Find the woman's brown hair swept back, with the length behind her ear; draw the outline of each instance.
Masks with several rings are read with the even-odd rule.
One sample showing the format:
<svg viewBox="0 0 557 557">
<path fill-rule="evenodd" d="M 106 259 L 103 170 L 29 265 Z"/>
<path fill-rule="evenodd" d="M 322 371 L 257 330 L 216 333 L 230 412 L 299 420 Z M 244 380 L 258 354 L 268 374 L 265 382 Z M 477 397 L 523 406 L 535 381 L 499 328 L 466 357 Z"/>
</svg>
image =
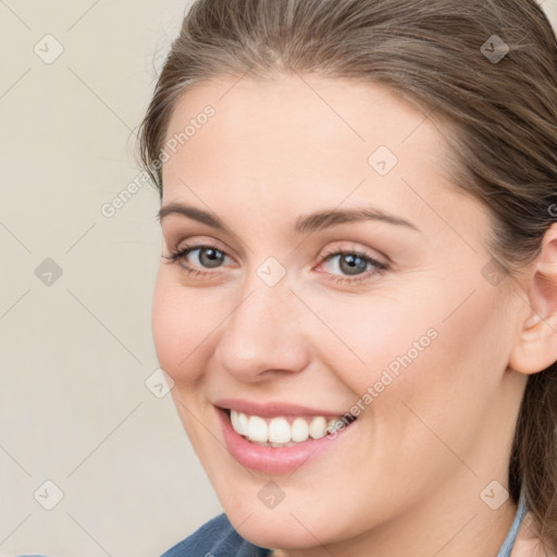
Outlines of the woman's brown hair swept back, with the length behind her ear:
<svg viewBox="0 0 557 557">
<path fill-rule="evenodd" d="M 490 209 L 496 261 L 512 275 L 540 252 L 557 220 L 557 40 L 534 0 L 196 1 L 140 126 L 141 162 L 161 195 L 177 99 L 248 72 L 389 86 L 440 123 L 451 181 Z M 557 363 L 528 377 L 508 480 L 557 553 Z"/>
</svg>

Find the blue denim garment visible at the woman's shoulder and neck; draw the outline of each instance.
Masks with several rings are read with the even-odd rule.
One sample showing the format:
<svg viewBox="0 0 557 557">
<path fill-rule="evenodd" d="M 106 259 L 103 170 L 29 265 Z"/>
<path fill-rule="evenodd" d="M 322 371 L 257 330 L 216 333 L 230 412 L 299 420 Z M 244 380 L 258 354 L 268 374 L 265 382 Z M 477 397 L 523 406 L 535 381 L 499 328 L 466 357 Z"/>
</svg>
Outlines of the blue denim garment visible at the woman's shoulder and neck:
<svg viewBox="0 0 557 557">
<path fill-rule="evenodd" d="M 524 491 L 520 493 L 515 520 L 497 557 L 509 557 L 518 529 L 527 512 Z M 258 547 L 244 540 L 233 528 L 226 515 L 222 513 L 206 522 L 189 537 L 165 552 L 161 557 L 265 557 L 271 549 Z"/>
</svg>

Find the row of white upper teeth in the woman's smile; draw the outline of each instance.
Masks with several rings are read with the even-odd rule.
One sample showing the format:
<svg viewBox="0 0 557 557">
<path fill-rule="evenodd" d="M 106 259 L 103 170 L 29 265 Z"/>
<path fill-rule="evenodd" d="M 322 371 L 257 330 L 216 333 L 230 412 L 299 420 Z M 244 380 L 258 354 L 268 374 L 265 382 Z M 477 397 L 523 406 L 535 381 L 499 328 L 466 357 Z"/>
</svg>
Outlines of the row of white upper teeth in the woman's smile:
<svg viewBox="0 0 557 557">
<path fill-rule="evenodd" d="M 231 410 L 234 431 L 246 435 L 249 441 L 259 443 L 300 443 L 308 437 L 319 440 L 335 431 L 335 423 L 339 420 L 342 420 L 341 417 L 333 418 L 327 422 L 323 416 L 315 416 L 309 423 L 306 418 L 295 418 L 290 424 L 285 418 L 273 418 L 268 422 L 259 416 L 247 416 Z"/>
</svg>

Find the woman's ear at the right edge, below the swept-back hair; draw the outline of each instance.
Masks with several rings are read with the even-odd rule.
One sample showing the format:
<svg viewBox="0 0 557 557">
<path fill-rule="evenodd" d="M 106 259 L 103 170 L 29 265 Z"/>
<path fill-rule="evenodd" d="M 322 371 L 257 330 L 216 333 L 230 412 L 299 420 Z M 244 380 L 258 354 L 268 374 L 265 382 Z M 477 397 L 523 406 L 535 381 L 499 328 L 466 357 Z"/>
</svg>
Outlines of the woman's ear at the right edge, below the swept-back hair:
<svg viewBox="0 0 557 557">
<path fill-rule="evenodd" d="M 530 311 L 508 363 L 525 374 L 543 371 L 557 360 L 557 223 L 545 233 L 525 283 Z"/>
</svg>

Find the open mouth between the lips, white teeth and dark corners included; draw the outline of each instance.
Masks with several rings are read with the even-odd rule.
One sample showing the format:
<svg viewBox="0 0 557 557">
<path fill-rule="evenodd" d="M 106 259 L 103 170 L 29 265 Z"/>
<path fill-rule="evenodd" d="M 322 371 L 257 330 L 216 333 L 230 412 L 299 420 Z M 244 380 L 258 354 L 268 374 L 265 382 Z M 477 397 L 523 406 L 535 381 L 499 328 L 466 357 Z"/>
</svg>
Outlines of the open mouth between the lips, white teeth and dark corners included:
<svg viewBox="0 0 557 557">
<path fill-rule="evenodd" d="M 238 435 L 265 447 L 293 447 L 308 440 L 333 435 L 356 421 L 356 417 L 349 412 L 327 420 L 324 416 L 261 418 L 237 410 L 224 410 Z"/>
</svg>

